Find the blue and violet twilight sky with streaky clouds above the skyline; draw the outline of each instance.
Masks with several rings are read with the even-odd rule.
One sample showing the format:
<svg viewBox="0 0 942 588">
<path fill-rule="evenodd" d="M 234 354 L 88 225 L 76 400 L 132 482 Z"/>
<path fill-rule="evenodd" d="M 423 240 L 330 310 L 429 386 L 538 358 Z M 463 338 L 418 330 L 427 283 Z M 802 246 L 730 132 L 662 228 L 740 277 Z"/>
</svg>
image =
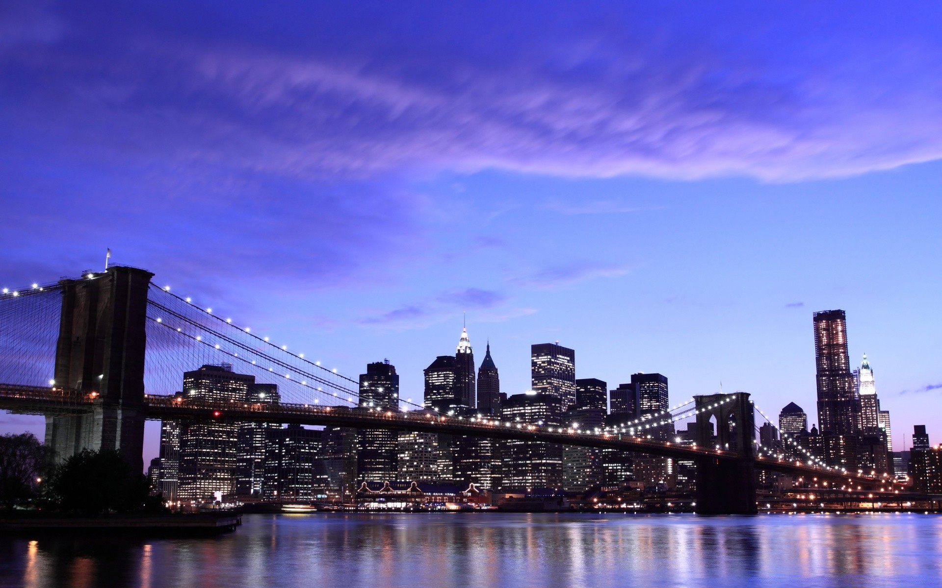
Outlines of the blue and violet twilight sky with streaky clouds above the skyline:
<svg viewBox="0 0 942 588">
<path fill-rule="evenodd" d="M 840 308 L 896 448 L 942 441 L 940 40 L 932 2 L 6 2 L 0 286 L 111 247 L 403 397 L 467 311 L 509 393 L 559 340 L 813 422 Z"/>
</svg>

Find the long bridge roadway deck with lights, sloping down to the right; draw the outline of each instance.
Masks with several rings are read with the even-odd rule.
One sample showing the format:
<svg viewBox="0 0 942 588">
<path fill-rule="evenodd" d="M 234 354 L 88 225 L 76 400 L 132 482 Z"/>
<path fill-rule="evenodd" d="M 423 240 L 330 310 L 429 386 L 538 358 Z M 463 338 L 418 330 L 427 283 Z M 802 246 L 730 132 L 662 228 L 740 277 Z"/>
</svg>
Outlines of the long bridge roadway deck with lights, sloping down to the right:
<svg viewBox="0 0 942 588">
<path fill-rule="evenodd" d="M 90 410 L 101 400 L 95 392 L 72 389 L 50 389 L 32 386 L 0 384 L 0 409 L 20 414 L 65 414 Z M 580 432 L 555 426 L 501 421 L 491 418 L 462 418 L 432 412 L 394 412 L 374 408 L 348 406 L 321 406 L 297 404 L 245 404 L 202 403 L 189 401 L 183 396 L 145 394 L 142 410 L 148 420 L 224 421 L 224 422 L 280 422 L 307 425 L 333 425 L 363 429 L 391 429 L 420 431 L 468 437 L 489 437 L 542 441 L 562 445 L 578 445 L 601 449 L 615 449 L 633 453 L 648 453 L 674 459 L 737 461 L 737 452 L 678 445 L 633 437 L 621 433 Z M 901 485 L 886 478 L 852 475 L 833 469 L 807 465 L 799 461 L 755 457 L 755 468 L 779 471 L 789 475 L 833 480 L 841 484 L 861 485 L 873 491 L 904 490 Z"/>
</svg>

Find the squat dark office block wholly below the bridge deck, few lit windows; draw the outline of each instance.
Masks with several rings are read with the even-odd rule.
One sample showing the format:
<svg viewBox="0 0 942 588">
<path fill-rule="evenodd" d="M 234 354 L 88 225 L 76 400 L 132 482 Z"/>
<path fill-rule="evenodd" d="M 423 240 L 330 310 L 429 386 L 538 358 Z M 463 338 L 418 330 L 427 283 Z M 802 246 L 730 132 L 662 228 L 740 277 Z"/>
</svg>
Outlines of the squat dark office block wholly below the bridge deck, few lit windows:
<svg viewBox="0 0 942 588">
<path fill-rule="evenodd" d="M 265 500 L 310 501 L 314 498 L 314 464 L 322 434 L 300 424 L 265 429 Z"/>
</svg>

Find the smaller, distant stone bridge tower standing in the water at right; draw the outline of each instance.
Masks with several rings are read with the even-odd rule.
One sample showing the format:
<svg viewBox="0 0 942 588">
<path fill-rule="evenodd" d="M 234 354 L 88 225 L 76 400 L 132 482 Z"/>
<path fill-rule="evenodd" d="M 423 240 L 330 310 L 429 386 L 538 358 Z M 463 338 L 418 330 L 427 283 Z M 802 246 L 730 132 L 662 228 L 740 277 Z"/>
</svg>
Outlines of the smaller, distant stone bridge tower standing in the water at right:
<svg viewBox="0 0 942 588">
<path fill-rule="evenodd" d="M 697 513 L 755 515 L 755 416 L 749 394 L 710 394 L 693 400 L 698 410 L 697 446 L 717 447 L 738 457 L 696 459 Z M 716 421 L 715 433 L 711 418 Z"/>
</svg>

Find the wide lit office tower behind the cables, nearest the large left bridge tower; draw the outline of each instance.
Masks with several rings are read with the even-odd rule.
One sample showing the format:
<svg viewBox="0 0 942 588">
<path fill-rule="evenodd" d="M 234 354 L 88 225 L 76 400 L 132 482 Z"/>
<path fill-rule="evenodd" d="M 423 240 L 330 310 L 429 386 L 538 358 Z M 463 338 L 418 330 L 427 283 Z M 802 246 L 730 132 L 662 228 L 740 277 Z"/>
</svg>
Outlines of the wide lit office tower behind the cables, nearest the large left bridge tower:
<svg viewBox="0 0 942 588">
<path fill-rule="evenodd" d="M 234 373 L 232 364 L 203 365 L 184 373 L 187 399 L 216 403 L 245 403 L 255 376 Z M 180 432 L 179 498 L 211 500 L 235 491 L 235 456 L 238 424 L 198 422 Z"/>
</svg>

